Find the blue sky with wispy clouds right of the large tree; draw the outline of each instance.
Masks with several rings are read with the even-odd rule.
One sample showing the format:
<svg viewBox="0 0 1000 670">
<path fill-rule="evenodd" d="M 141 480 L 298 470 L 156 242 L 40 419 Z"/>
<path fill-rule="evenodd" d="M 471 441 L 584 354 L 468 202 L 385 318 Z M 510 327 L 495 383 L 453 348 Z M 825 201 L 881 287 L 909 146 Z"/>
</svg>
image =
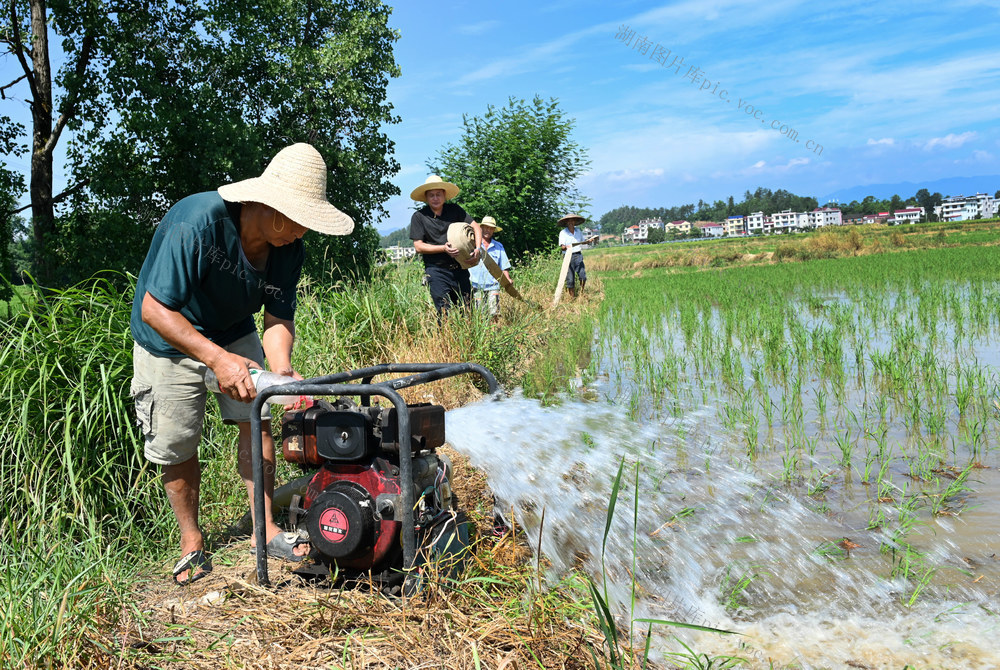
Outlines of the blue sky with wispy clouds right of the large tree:
<svg viewBox="0 0 1000 670">
<path fill-rule="evenodd" d="M 462 114 L 536 93 L 576 121 L 595 218 L 757 186 L 822 197 L 1000 174 L 998 19 L 995 0 L 400 4 L 389 99 L 402 123 L 389 132 L 404 196 L 379 229 L 408 224 L 405 194 Z M 651 58 L 657 45 L 679 71 Z"/>
</svg>

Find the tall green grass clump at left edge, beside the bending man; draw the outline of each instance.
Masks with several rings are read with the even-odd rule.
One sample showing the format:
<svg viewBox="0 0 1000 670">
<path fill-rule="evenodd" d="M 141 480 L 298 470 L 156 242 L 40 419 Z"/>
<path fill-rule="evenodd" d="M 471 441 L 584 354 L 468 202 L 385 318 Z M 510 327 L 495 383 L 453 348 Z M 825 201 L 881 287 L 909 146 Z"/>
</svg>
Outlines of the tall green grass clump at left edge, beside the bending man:
<svg viewBox="0 0 1000 670">
<path fill-rule="evenodd" d="M 0 322 L 0 665 L 86 667 L 162 502 L 130 409 L 131 295 L 37 295 Z"/>
</svg>

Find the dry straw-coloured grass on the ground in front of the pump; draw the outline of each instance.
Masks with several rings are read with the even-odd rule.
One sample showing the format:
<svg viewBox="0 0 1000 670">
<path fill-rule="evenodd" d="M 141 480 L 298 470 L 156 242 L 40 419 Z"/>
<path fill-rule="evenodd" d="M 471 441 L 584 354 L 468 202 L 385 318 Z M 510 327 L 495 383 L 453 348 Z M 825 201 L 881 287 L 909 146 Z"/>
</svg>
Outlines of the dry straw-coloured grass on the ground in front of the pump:
<svg viewBox="0 0 1000 670">
<path fill-rule="evenodd" d="M 583 623 L 589 604 L 568 606 L 552 600 L 558 593 L 530 588 L 537 575 L 523 536 L 491 536 L 485 477 L 443 451 L 479 537 L 463 579 L 401 600 L 310 583 L 271 561 L 273 588 L 265 589 L 249 539 L 235 537 L 215 548 L 213 572 L 188 587 L 173 585 L 169 566 L 151 576 L 116 633 L 118 667 L 593 667 L 588 646 L 599 649 L 603 638 Z"/>
</svg>

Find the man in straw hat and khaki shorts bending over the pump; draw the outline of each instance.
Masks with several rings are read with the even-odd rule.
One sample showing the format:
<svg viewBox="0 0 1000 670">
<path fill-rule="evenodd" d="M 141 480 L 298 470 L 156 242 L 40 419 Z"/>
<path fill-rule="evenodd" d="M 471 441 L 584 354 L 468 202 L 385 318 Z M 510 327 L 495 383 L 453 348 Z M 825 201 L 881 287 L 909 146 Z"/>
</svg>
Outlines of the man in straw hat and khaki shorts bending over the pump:
<svg viewBox="0 0 1000 670">
<path fill-rule="evenodd" d="M 260 177 L 188 196 L 163 217 L 139 272 L 132 305 L 132 396 L 145 454 L 162 467 L 180 527 L 174 580 L 189 584 L 211 571 L 198 525 L 198 443 L 208 370 L 218 380 L 223 421 L 239 427 L 238 464 L 253 511 L 250 368 L 302 379 L 292 369 L 295 289 L 302 236 L 347 235 L 354 222 L 326 198 L 326 163 L 309 144 L 285 147 Z M 263 336 L 254 314 L 264 308 Z M 265 419 L 269 419 L 265 414 Z M 264 430 L 268 555 L 299 561 L 304 538 L 282 533 L 271 512 L 274 442 Z"/>
</svg>

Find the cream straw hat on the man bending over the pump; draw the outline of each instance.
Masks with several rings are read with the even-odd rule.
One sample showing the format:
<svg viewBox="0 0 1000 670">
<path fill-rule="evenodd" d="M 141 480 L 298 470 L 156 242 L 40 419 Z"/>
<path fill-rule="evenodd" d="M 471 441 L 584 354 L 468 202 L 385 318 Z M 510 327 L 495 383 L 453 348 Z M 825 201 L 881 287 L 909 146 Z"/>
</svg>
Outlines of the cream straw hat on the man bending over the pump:
<svg viewBox="0 0 1000 670">
<path fill-rule="evenodd" d="M 326 162 L 311 144 L 285 147 L 264 174 L 219 187 L 229 202 L 259 202 L 326 235 L 347 235 L 354 221 L 326 199 Z"/>
</svg>

